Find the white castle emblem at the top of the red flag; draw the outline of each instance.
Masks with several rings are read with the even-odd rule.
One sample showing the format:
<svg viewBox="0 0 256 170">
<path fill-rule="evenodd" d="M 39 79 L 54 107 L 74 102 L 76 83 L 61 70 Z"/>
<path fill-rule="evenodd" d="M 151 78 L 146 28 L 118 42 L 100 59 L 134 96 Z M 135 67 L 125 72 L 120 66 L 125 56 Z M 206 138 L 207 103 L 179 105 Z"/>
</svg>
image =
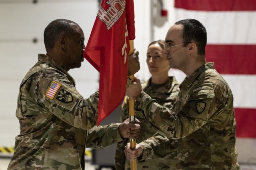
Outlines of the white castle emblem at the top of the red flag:
<svg viewBox="0 0 256 170">
<path fill-rule="evenodd" d="M 97 16 L 106 24 L 109 30 L 122 16 L 125 8 L 125 0 L 108 0 L 106 4 L 109 5 L 109 8 L 104 10 L 102 6 L 100 6 Z"/>
</svg>

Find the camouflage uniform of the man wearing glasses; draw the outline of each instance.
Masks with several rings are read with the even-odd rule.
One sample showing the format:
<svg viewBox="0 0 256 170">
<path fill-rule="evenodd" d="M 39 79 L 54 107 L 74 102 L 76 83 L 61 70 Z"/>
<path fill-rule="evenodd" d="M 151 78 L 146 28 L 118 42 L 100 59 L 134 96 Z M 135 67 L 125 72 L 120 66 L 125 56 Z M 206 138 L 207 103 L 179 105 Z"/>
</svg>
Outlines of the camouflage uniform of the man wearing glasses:
<svg viewBox="0 0 256 170">
<path fill-rule="evenodd" d="M 178 170 L 239 170 L 233 96 L 214 63 L 198 68 L 180 84 L 174 111 L 142 93 L 135 106 L 167 137 L 178 139 Z M 165 144 L 168 145 L 168 144 Z M 157 152 L 157 150 L 156 150 Z M 147 158 L 144 150 L 139 160 Z"/>
</svg>

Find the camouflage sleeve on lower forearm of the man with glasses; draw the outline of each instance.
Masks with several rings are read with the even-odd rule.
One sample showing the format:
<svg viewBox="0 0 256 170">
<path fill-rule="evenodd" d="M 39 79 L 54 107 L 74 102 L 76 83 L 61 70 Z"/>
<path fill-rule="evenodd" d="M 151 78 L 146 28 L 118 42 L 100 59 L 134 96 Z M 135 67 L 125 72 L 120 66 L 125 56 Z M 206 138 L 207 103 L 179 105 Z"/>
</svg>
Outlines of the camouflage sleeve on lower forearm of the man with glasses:
<svg viewBox="0 0 256 170">
<path fill-rule="evenodd" d="M 138 158 L 138 161 L 177 156 L 177 140 L 170 141 L 158 133 L 139 144 L 143 147 L 143 154 Z"/>
</svg>

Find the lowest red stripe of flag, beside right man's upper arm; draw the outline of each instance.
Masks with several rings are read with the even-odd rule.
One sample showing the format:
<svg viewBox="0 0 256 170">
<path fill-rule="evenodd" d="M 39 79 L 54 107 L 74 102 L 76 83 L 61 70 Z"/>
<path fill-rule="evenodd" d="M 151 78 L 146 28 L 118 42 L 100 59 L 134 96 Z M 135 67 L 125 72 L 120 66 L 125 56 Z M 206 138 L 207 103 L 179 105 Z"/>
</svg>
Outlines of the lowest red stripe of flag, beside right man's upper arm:
<svg viewBox="0 0 256 170">
<path fill-rule="evenodd" d="M 235 108 L 236 137 L 256 138 L 256 109 Z"/>
</svg>

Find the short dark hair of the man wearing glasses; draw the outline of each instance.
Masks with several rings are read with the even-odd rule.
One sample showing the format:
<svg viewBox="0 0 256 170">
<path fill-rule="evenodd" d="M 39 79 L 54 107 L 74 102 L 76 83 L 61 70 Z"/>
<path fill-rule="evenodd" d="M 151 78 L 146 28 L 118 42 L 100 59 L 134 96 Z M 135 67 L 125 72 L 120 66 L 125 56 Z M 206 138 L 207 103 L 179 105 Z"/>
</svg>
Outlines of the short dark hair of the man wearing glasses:
<svg viewBox="0 0 256 170">
<path fill-rule="evenodd" d="M 195 19 L 180 20 L 176 25 L 183 25 L 183 43 L 194 42 L 198 47 L 198 54 L 205 55 L 207 33 L 204 25 Z M 187 44 L 184 44 L 186 47 Z"/>
</svg>

